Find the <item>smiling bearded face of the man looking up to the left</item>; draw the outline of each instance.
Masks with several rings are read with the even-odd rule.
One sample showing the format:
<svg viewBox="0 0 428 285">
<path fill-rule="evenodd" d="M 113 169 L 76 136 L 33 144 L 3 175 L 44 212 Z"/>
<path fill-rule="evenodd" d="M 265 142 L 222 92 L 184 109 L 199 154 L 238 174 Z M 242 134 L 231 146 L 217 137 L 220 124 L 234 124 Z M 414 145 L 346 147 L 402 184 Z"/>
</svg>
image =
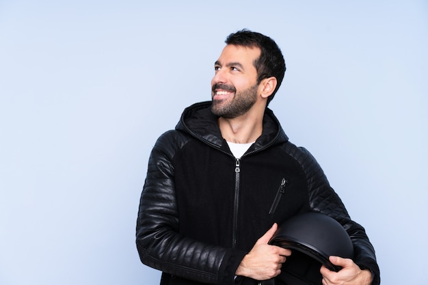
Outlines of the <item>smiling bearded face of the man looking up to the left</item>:
<svg viewBox="0 0 428 285">
<path fill-rule="evenodd" d="M 254 60 L 260 49 L 228 44 L 215 62 L 211 80 L 213 104 L 211 110 L 223 118 L 243 115 L 257 101 L 257 70 Z"/>
</svg>

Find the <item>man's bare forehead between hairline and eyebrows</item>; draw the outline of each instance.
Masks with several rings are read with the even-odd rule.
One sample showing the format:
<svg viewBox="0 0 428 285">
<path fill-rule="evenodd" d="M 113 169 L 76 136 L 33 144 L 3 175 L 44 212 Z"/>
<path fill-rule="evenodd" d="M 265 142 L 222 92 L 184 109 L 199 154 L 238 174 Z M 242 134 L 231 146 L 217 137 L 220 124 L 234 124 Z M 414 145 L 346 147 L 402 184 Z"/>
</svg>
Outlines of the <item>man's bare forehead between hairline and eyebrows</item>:
<svg viewBox="0 0 428 285">
<path fill-rule="evenodd" d="M 225 65 L 229 62 L 239 62 L 242 65 L 253 65 L 258 57 L 260 57 L 260 49 L 258 47 L 250 48 L 228 44 L 224 47 L 217 63 Z"/>
</svg>

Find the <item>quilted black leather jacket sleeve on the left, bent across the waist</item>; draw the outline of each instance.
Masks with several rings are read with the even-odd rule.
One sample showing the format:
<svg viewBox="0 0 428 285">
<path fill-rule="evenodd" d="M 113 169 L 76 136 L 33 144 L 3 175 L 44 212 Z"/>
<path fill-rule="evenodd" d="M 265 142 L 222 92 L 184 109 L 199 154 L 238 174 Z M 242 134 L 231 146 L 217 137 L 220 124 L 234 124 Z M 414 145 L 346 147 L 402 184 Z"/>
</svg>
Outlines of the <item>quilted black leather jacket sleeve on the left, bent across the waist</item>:
<svg viewBox="0 0 428 285">
<path fill-rule="evenodd" d="M 172 159 L 187 139 L 183 133 L 170 131 L 159 137 L 152 149 L 137 218 L 139 258 L 150 267 L 185 279 L 232 284 L 246 252 L 209 245 L 178 233 Z"/>
</svg>

